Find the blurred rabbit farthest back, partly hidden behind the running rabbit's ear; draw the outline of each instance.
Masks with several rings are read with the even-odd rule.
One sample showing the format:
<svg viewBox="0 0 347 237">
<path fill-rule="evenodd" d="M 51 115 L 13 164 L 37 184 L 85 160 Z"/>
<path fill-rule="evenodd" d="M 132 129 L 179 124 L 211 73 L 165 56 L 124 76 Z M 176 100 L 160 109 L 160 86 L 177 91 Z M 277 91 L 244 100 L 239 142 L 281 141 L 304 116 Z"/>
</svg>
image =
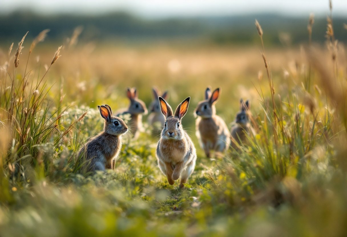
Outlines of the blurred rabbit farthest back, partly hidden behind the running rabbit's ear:
<svg viewBox="0 0 347 237">
<path fill-rule="evenodd" d="M 160 103 L 158 99 L 160 92 L 156 87 L 153 87 L 152 91 L 153 91 L 153 101 L 149 107 L 149 111 L 151 112 L 151 114 L 148 116 L 147 122 L 149 125 L 153 125 L 155 122 L 159 122 L 161 125 L 161 128 L 160 128 L 160 131 L 161 131 L 165 123 L 165 117 L 160 111 Z M 161 96 L 161 98 L 167 99 L 167 97 L 168 97 L 168 92 L 165 91 L 164 94 Z"/>
</svg>

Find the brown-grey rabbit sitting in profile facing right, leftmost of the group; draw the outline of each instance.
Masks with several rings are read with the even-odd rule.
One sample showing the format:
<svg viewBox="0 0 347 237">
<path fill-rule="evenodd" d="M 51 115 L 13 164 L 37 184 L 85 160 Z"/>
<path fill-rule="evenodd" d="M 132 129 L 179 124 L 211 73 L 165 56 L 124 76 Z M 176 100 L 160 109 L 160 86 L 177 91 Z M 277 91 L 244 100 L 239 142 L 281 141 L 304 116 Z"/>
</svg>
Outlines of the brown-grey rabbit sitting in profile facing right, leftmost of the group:
<svg viewBox="0 0 347 237">
<path fill-rule="evenodd" d="M 116 159 L 122 146 L 122 135 L 128 131 L 125 122 L 112 114 L 108 105 L 99 106 L 104 118 L 104 131 L 91 138 L 78 153 L 79 157 L 91 160 L 87 171 L 114 169 Z"/>
</svg>

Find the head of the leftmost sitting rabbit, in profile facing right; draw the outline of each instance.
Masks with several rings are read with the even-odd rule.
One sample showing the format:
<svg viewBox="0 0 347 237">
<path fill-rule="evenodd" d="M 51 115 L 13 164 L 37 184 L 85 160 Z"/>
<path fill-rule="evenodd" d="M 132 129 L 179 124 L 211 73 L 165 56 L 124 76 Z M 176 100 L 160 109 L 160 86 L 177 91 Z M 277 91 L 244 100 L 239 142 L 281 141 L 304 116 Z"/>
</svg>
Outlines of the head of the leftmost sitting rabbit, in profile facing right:
<svg viewBox="0 0 347 237">
<path fill-rule="evenodd" d="M 99 108 L 101 117 L 103 117 L 103 119 L 105 120 L 104 122 L 105 133 L 119 136 L 128 131 L 128 127 L 125 124 L 125 122 L 121 118 L 113 116 L 110 106 L 98 105 L 98 108 Z"/>
</svg>

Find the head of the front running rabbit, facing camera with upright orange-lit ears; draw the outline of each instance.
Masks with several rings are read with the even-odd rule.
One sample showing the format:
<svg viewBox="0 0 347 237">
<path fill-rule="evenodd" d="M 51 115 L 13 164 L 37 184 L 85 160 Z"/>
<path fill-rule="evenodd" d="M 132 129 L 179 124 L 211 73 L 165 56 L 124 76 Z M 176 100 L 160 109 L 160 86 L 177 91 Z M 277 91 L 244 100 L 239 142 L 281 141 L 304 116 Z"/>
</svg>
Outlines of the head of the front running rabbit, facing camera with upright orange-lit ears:
<svg viewBox="0 0 347 237">
<path fill-rule="evenodd" d="M 159 97 L 160 109 L 166 118 L 164 128 L 161 132 L 162 139 L 181 140 L 183 138 L 184 131 L 181 125 L 181 119 L 188 111 L 190 99 L 191 97 L 188 97 L 183 100 L 183 102 L 178 105 L 174 115 L 170 105 L 162 97 Z"/>
</svg>

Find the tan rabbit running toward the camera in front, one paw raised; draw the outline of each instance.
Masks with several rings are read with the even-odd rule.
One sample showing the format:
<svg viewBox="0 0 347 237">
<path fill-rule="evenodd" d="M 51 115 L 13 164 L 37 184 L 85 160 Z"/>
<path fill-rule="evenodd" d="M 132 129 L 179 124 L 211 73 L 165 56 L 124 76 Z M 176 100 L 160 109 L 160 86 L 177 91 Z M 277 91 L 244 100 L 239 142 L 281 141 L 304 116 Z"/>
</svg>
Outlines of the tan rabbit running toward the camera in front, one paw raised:
<svg viewBox="0 0 347 237">
<path fill-rule="evenodd" d="M 175 115 L 166 101 L 159 97 L 161 112 L 166 118 L 160 140 L 156 147 L 156 157 L 161 172 L 167 176 L 169 184 L 181 177 L 179 187 L 187 183 L 194 171 L 196 150 L 192 139 L 183 130 L 182 117 L 187 113 L 190 97 L 178 105 Z"/>
</svg>

